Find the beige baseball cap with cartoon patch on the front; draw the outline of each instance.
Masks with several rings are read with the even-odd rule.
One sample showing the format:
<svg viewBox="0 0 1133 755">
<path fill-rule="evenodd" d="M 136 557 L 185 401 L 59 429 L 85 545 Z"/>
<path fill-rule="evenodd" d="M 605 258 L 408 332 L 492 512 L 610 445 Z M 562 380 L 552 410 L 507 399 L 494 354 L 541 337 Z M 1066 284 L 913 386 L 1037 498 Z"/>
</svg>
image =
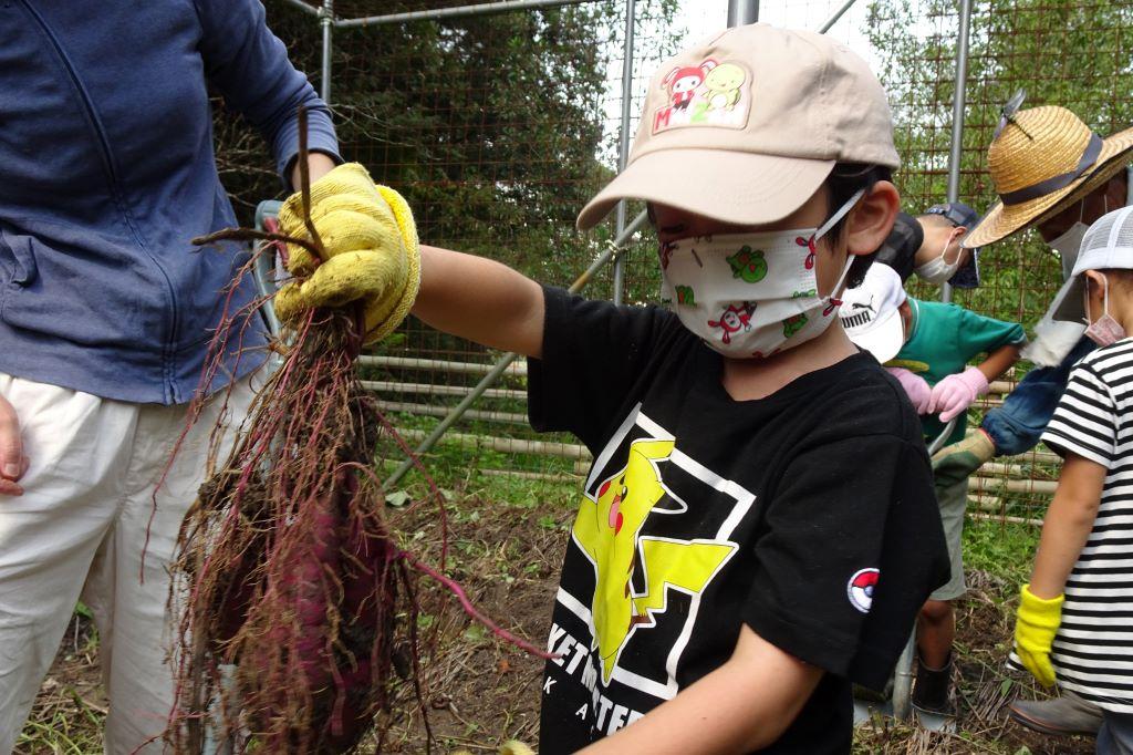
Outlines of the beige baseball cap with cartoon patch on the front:
<svg viewBox="0 0 1133 755">
<path fill-rule="evenodd" d="M 835 162 L 900 163 L 869 66 L 821 34 L 739 26 L 662 65 L 625 170 L 582 209 L 578 227 L 594 227 L 619 200 L 774 222 L 802 206 Z"/>
</svg>

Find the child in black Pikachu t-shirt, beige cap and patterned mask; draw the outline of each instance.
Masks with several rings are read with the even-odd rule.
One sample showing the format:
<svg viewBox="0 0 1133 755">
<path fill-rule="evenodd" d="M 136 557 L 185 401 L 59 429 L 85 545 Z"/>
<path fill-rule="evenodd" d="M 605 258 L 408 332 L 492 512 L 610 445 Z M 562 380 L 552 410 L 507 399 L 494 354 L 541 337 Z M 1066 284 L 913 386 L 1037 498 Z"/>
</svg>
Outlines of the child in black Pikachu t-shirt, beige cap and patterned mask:
<svg viewBox="0 0 1133 755">
<path fill-rule="evenodd" d="M 543 755 L 850 750 L 851 681 L 884 685 L 948 575 L 917 415 L 837 317 L 896 164 L 858 56 L 746 26 L 662 67 L 629 166 L 579 217 L 648 203 L 667 309 L 421 247 L 415 314 L 527 355 L 531 423 L 595 457 Z"/>
</svg>

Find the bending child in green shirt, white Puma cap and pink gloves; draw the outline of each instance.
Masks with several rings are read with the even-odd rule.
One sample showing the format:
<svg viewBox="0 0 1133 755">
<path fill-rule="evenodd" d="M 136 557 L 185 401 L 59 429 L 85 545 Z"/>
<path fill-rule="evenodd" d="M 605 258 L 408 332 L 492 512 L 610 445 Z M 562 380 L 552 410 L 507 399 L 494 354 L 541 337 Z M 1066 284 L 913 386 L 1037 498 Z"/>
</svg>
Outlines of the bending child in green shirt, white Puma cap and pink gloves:
<svg viewBox="0 0 1133 755">
<path fill-rule="evenodd" d="M 905 296 L 900 275 L 887 265 L 875 264 L 862 285 L 849 289 L 843 298 L 840 316 L 846 336 L 884 364 L 905 389 L 921 416 L 926 441 L 946 432 L 952 419 L 959 422 L 951 436 L 962 438 L 968 407 L 1019 359 L 1026 340 L 1017 323 L 986 317 L 955 304 Z M 969 364 L 985 354 L 979 364 Z M 935 716 L 955 713 L 953 602 L 966 592 L 962 536 L 968 481 L 936 483 L 936 499 L 952 572 L 947 584 L 929 596 L 917 620 L 912 703 L 928 727 L 939 726 Z"/>
</svg>

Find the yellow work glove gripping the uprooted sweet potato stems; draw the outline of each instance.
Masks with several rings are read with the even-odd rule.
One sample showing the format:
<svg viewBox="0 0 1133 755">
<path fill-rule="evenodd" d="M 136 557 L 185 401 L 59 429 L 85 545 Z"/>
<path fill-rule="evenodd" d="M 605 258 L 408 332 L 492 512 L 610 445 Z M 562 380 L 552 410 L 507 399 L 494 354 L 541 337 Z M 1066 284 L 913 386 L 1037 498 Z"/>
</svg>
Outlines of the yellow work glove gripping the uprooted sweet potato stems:
<svg viewBox="0 0 1133 755">
<path fill-rule="evenodd" d="M 337 167 L 310 186 L 310 219 L 327 260 L 288 245 L 292 281 L 275 295 L 275 314 L 295 322 L 314 307 L 361 306 L 366 343 L 401 324 L 420 286 L 420 251 L 409 205 L 386 186 L 376 186 L 358 163 Z M 299 193 L 279 214 L 280 232 L 309 239 Z"/>
</svg>

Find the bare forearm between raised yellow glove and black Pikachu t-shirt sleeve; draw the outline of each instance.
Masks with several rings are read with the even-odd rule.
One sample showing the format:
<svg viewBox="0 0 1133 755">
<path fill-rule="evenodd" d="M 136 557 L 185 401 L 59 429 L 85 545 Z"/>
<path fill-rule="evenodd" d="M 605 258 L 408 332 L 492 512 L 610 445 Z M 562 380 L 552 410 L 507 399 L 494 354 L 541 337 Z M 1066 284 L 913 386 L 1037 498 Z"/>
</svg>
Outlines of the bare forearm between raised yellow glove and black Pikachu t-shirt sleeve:
<svg viewBox="0 0 1133 755">
<path fill-rule="evenodd" d="M 484 346 L 543 356 L 543 288 L 485 257 L 423 245 L 412 313 L 437 330 Z"/>
</svg>

